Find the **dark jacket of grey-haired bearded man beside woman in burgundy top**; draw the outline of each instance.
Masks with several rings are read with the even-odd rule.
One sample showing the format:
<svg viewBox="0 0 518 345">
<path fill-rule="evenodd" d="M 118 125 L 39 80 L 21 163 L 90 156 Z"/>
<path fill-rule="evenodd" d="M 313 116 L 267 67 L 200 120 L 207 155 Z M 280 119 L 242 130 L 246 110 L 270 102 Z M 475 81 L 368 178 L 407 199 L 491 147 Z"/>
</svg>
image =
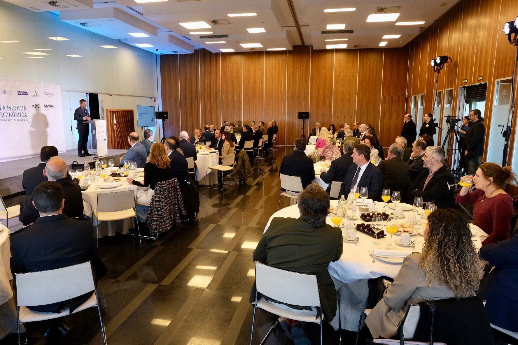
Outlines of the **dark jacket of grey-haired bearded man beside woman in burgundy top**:
<svg viewBox="0 0 518 345">
<path fill-rule="evenodd" d="M 422 197 L 424 202 L 434 202 L 437 208 L 450 208 L 455 205 L 453 189 L 449 189 L 447 183 L 454 184 L 452 173 L 446 166 L 440 167 L 423 190 L 429 171 L 425 169 L 408 189 L 408 200 L 414 197 Z"/>
</svg>

